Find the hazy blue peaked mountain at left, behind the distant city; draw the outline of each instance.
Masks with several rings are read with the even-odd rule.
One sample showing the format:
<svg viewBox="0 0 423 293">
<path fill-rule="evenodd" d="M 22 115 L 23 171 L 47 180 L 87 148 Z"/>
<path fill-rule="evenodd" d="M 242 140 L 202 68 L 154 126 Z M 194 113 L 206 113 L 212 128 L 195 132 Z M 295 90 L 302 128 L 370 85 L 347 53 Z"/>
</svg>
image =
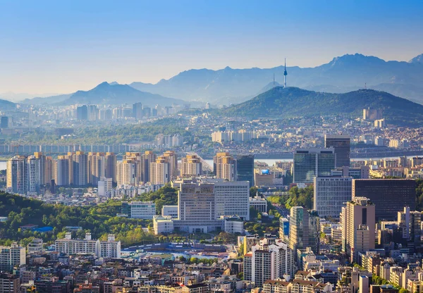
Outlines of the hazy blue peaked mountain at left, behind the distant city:
<svg viewBox="0 0 423 293">
<path fill-rule="evenodd" d="M 78 91 L 73 94 L 61 94 L 47 98 L 25 99 L 24 104 L 54 104 L 66 106 L 73 104 L 134 104 L 141 102 L 147 106 L 170 106 L 184 104 L 180 99 L 166 98 L 159 94 L 141 92 L 129 85 L 119 85 L 117 82 L 102 82 L 89 91 Z"/>
</svg>

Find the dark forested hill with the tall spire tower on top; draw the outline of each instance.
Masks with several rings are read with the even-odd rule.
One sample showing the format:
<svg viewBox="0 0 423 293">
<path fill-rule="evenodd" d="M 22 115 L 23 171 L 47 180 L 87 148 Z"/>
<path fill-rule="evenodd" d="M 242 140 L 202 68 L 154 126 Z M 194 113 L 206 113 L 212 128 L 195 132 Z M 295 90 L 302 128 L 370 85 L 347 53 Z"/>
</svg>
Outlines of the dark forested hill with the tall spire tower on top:
<svg viewBox="0 0 423 293">
<path fill-rule="evenodd" d="M 347 115 L 362 116 L 363 108 L 382 108 L 388 123 L 423 125 L 423 105 L 373 89 L 360 89 L 345 94 L 312 92 L 298 87 L 274 87 L 249 101 L 224 108 L 225 116 L 279 118 L 295 116 Z"/>
</svg>

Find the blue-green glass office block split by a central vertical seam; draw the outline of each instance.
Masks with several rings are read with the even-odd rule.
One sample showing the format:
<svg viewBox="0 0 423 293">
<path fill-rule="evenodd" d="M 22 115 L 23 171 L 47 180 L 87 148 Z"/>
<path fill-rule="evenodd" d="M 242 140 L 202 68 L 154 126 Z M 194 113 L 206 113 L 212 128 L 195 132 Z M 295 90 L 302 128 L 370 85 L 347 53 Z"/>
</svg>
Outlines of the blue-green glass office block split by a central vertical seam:
<svg viewBox="0 0 423 293">
<path fill-rule="evenodd" d="M 333 148 L 297 149 L 294 153 L 294 182 L 312 183 L 314 177 L 329 176 L 335 168 Z"/>
</svg>

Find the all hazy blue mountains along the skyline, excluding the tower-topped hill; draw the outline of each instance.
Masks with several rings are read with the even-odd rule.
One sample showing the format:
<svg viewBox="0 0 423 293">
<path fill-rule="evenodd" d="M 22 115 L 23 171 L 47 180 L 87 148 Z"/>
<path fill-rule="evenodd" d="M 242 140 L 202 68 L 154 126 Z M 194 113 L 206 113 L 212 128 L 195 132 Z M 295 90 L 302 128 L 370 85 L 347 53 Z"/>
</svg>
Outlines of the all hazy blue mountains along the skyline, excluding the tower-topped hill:
<svg viewBox="0 0 423 293">
<path fill-rule="evenodd" d="M 228 106 L 242 103 L 271 87 L 283 84 L 283 70 L 283 66 L 263 69 L 191 69 L 156 84 L 132 82 L 130 85 L 120 85 L 118 82 L 103 82 L 90 91 L 25 99 L 23 103 L 130 104 L 145 100 L 150 106 L 168 102 L 180 104 L 184 101 Z M 314 68 L 294 66 L 287 70 L 288 87 L 330 93 L 376 89 L 423 104 L 423 54 L 408 62 L 347 54 Z M 274 77 L 276 82 L 272 82 Z"/>
</svg>

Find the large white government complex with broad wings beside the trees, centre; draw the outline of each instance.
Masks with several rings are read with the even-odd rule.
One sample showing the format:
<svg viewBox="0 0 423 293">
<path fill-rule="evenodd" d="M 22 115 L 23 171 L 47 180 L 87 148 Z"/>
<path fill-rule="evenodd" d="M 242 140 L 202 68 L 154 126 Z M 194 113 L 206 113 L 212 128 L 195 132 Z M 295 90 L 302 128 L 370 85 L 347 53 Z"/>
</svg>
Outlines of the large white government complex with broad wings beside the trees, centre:
<svg viewBox="0 0 423 293">
<path fill-rule="evenodd" d="M 182 180 L 178 206 L 164 206 L 161 216 L 154 216 L 154 233 L 183 230 L 243 232 L 243 220 L 250 220 L 250 183 L 222 179 Z"/>
</svg>

